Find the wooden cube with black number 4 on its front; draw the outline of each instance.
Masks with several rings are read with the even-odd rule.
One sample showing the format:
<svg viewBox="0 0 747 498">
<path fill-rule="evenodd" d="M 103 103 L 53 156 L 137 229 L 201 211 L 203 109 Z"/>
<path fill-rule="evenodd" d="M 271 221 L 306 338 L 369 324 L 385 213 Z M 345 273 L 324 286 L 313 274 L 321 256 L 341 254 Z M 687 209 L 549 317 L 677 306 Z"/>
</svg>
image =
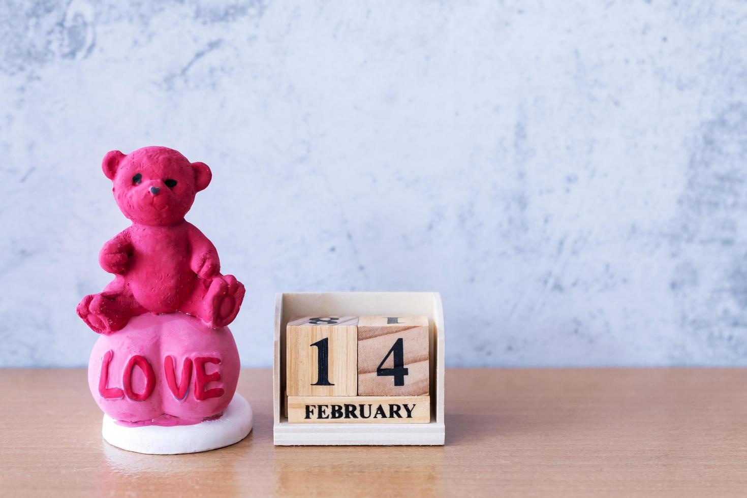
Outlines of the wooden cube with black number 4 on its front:
<svg viewBox="0 0 747 498">
<path fill-rule="evenodd" d="M 427 317 L 360 317 L 359 396 L 426 396 L 430 389 Z"/>
</svg>

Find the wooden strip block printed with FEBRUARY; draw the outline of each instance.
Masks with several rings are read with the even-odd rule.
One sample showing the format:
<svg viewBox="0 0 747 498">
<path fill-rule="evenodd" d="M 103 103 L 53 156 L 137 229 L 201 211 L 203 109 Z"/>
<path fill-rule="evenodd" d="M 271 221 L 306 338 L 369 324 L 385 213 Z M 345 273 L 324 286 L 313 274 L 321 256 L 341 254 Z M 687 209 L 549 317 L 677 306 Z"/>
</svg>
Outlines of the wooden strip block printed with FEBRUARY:
<svg viewBox="0 0 747 498">
<path fill-rule="evenodd" d="M 289 423 L 429 423 L 428 396 L 288 396 Z"/>
</svg>

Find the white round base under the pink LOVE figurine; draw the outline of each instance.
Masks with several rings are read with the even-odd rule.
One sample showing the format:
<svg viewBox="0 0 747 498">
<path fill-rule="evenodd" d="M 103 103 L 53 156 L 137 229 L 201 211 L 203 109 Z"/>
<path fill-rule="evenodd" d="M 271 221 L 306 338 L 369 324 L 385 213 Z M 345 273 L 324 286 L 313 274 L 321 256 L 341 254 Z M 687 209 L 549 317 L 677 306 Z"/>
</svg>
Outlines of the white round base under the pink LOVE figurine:
<svg viewBox="0 0 747 498">
<path fill-rule="evenodd" d="M 193 426 L 120 426 L 104 415 L 105 441 L 128 451 L 149 455 L 178 455 L 222 448 L 238 443 L 252 430 L 252 406 L 241 394 L 233 399 L 218 420 Z"/>
</svg>

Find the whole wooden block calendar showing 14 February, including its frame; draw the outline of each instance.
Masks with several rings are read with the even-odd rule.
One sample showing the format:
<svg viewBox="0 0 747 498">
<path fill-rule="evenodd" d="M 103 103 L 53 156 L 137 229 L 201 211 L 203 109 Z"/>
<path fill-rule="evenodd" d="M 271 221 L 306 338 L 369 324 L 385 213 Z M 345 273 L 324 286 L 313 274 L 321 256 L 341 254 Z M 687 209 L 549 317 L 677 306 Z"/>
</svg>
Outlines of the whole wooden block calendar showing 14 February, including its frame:
<svg viewBox="0 0 747 498">
<path fill-rule="evenodd" d="M 438 293 L 279 294 L 275 443 L 443 444 L 443 337 Z"/>
</svg>

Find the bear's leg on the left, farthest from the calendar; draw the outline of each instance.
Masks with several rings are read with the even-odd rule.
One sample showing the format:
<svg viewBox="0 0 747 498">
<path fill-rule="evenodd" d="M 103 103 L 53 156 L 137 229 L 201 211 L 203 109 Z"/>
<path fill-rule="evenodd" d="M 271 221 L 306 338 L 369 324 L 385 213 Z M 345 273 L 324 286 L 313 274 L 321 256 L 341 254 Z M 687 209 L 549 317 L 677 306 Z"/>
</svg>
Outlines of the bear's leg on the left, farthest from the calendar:
<svg viewBox="0 0 747 498">
<path fill-rule="evenodd" d="M 102 293 L 85 296 L 78 304 L 78 317 L 97 334 L 111 334 L 127 325 L 131 317 L 145 313 L 123 282 L 112 281 Z"/>
</svg>

